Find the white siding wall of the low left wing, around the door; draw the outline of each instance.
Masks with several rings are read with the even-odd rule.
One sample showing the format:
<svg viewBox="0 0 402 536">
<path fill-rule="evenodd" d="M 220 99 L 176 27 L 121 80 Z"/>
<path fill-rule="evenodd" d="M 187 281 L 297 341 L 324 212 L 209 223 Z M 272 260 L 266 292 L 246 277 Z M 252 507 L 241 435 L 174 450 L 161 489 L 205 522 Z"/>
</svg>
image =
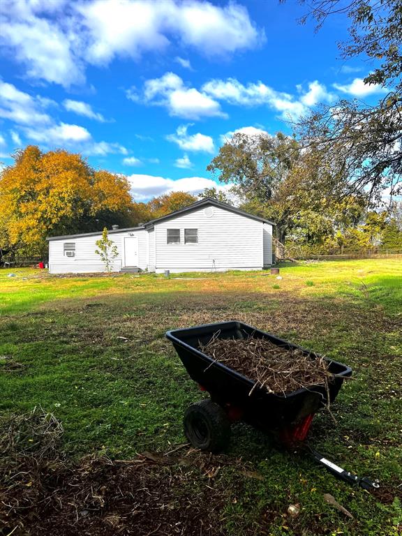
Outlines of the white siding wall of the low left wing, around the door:
<svg viewBox="0 0 402 536">
<path fill-rule="evenodd" d="M 109 235 L 117 246 L 119 256 L 113 260 L 112 271 L 120 271 L 124 267 L 124 237 L 138 237 L 138 267 L 147 268 L 147 232 L 138 230 L 133 232 L 118 232 Z M 91 237 L 75 237 L 49 241 L 49 271 L 51 274 L 84 274 L 105 271 L 105 265 L 99 255 L 96 255 L 96 241 L 102 234 Z M 64 255 L 64 243 L 75 243 L 75 257 Z"/>
</svg>

